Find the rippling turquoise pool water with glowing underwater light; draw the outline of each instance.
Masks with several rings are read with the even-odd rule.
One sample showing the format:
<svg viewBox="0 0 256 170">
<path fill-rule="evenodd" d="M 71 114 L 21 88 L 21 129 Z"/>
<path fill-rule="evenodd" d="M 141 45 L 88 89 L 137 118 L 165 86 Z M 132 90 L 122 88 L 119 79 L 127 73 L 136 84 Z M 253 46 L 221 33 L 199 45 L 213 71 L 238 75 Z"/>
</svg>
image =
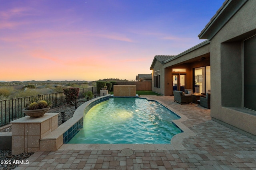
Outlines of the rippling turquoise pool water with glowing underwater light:
<svg viewBox="0 0 256 170">
<path fill-rule="evenodd" d="M 177 115 L 158 102 L 141 98 L 110 98 L 92 107 L 84 127 L 69 143 L 170 144 L 181 130 Z"/>
</svg>

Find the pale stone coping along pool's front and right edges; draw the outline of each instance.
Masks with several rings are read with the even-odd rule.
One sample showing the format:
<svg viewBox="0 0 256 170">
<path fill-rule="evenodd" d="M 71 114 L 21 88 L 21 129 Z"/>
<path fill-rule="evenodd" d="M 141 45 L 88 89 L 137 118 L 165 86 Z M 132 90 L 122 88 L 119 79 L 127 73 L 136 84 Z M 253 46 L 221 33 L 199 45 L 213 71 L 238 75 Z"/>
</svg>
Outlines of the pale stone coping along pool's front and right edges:
<svg viewBox="0 0 256 170">
<path fill-rule="evenodd" d="M 146 98 L 146 97 L 140 97 Z M 162 106 L 171 110 L 178 116 L 180 119 L 173 120 L 172 122 L 178 126 L 183 132 L 178 133 L 172 137 L 170 144 L 63 144 L 58 150 L 122 150 L 122 149 L 132 149 L 132 150 L 186 150 L 182 145 L 182 141 L 184 138 L 197 136 L 192 130 L 186 127 L 182 122 L 186 121 L 188 118 L 177 111 L 176 109 L 167 106 L 159 100 L 152 100 L 146 98 L 149 101 L 156 101 L 160 103 Z M 82 111 L 81 108 L 78 107 L 78 111 Z M 77 110 L 76 110 L 77 111 Z M 82 111 L 84 113 L 84 111 Z"/>
</svg>

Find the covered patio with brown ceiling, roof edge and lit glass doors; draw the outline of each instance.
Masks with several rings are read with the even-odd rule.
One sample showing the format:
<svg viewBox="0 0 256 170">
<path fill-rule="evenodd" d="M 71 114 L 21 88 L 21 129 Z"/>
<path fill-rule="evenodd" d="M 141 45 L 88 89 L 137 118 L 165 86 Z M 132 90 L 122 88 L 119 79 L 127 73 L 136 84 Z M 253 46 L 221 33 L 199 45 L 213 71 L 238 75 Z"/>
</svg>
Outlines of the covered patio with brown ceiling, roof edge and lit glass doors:
<svg viewBox="0 0 256 170">
<path fill-rule="evenodd" d="M 172 59 L 164 62 L 164 94 L 173 95 L 173 90 L 184 91 L 184 89 L 194 89 L 195 69 L 210 66 L 210 41 L 204 41 Z M 210 71 L 210 67 L 208 68 Z M 203 70 L 203 75 L 206 70 Z M 206 78 L 204 77 L 204 80 Z M 200 93 L 206 92 L 205 82 L 198 90 Z M 176 87 L 177 86 L 177 87 Z M 210 85 L 209 85 L 210 86 Z M 207 87 L 208 89 L 208 87 Z M 194 92 L 197 92 L 194 90 Z"/>
</svg>

